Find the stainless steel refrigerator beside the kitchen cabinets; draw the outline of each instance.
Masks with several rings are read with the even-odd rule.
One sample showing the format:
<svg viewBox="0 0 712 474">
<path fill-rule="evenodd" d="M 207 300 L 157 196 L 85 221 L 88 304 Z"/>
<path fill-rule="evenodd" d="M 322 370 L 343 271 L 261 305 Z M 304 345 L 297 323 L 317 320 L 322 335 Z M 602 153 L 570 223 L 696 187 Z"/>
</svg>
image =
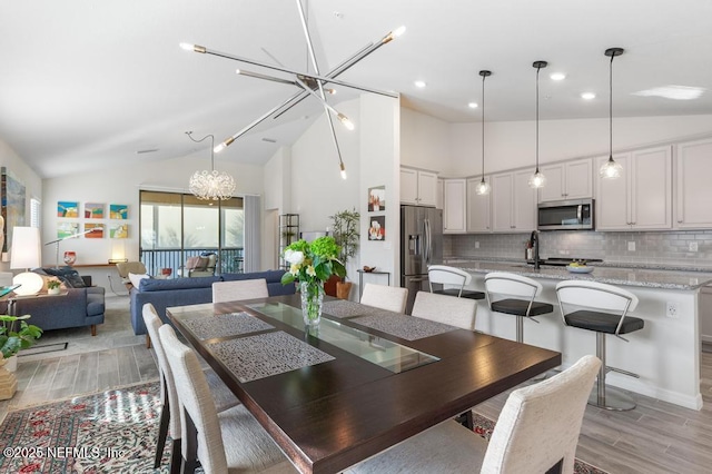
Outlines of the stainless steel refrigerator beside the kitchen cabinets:
<svg viewBox="0 0 712 474">
<path fill-rule="evenodd" d="M 408 288 L 406 313 L 415 294 L 429 290 L 427 266 L 443 263 L 443 210 L 400 206 L 400 286 Z"/>
</svg>

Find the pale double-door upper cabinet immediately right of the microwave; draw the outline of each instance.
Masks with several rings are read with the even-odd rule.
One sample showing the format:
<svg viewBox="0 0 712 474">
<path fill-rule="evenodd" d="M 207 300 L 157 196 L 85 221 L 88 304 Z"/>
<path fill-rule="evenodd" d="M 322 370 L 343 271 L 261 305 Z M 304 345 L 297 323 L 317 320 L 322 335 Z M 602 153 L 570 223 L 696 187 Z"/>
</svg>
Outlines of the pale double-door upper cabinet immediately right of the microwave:
<svg viewBox="0 0 712 474">
<path fill-rule="evenodd" d="M 597 230 L 672 228 L 672 147 L 614 155 L 617 179 L 596 177 Z M 609 157 L 596 159 L 599 169 Z"/>
</svg>

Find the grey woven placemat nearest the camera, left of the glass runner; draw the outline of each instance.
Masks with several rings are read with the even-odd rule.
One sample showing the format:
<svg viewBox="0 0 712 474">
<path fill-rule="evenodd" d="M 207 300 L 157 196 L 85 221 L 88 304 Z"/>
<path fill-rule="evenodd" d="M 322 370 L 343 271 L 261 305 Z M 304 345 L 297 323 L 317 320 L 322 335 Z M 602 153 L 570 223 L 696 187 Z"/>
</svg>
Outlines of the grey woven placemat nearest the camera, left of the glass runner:
<svg viewBox="0 0 712 474">
<path fill-rule="evenodd" d="M 208 347 L 240 382 L 335 359 L 281 330 L 208 344 Z"/>
</svg>

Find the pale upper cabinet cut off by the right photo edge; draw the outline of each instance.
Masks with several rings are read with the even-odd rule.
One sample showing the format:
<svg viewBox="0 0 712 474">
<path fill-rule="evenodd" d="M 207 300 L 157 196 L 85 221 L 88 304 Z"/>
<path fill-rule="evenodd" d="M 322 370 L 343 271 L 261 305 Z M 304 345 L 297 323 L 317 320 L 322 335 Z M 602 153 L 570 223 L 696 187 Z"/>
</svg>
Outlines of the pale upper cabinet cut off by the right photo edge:
<svg viewBox="0 0 712 474">
<path fill-rule="evenodd" d="M 712 140 L 678 145 L 675 161 L 674 227 L 712 228 Z"/>
</svg>

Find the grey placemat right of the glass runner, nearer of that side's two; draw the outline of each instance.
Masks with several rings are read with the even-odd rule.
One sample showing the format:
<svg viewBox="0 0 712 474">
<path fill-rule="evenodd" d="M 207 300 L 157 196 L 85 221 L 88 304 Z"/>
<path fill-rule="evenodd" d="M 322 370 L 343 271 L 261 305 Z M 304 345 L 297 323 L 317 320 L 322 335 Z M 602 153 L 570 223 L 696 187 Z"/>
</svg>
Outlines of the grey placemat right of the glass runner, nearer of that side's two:
<svg viewBox="0 0 712 474">
<path fill-rule="evenodd" d="M 443 323 L 386 310 L 355 317 L 350 320 L 406 340 L 422 339 L 457 329 Z"/>
</svg>

